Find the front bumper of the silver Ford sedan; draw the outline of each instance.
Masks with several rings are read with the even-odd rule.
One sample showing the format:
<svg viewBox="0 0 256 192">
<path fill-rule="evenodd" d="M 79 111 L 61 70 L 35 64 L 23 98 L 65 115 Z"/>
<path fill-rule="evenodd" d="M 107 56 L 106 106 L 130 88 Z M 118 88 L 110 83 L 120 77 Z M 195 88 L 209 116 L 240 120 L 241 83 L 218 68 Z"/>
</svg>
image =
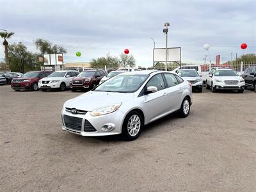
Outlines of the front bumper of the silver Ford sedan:
<svg viewBox="0 0 256 192">
<path fill-rule="evenodd" d="M 64 115 L 83 119 L 81 129 L 73 129 L 72 126 L 67 125 L 67 122 L 65 122 L 64 119 Z M 124 116 L 125 114 L 120 110 L 116 110 L 115 112 L 109 113 L 107 115 L 92 116 L 90 115 L 90 111 L 88 111 L 86 114 L 72 114 L 69 111 L 63 109 L 61 111 L 62 130 L 79 134 L 81 136 L 108 136 L 113 134 L 120 134 L 122 132 L 122 122 Z M 85 131 L 84 126 L 86 121 L 88 121 L 96 131 Z M 111 125 L 113 129 L 111 131 L 103 131 L 102 127 L 104 125 Z"/>
</svg>

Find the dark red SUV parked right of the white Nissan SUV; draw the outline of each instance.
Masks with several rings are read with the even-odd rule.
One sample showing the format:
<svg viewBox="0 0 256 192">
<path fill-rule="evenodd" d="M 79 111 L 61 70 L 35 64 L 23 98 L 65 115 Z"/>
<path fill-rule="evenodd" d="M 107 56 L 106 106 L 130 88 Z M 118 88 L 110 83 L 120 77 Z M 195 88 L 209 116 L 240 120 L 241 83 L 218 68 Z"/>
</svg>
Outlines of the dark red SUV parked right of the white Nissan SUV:
<svg viewBox="0 0 256 192">
<path fill-rule="evenodd" d="M 99 84 L 100 79 L 105 76 L 103 70 L 86 70 L 74 77 L 70 83 L 72 91 L 92 89 Z"/>
</svg>

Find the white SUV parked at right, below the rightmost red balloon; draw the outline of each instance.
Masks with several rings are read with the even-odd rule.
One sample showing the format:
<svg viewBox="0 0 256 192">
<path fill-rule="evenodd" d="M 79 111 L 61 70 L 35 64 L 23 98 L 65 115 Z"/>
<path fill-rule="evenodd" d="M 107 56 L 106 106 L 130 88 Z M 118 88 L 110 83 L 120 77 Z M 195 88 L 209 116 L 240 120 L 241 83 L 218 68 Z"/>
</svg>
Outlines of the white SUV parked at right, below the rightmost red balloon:
<svg viewBox="0 0 256 192">
<path fill-rule="evenodd" d="M 237 72 L 230 68 L 212 69 L 209 76 L 206 77 L 206 88 L 211 88 L 212 92 L 216 90 L 237 90 L 244 92 L 244 79 L 237 75 Z"/>
</svg>

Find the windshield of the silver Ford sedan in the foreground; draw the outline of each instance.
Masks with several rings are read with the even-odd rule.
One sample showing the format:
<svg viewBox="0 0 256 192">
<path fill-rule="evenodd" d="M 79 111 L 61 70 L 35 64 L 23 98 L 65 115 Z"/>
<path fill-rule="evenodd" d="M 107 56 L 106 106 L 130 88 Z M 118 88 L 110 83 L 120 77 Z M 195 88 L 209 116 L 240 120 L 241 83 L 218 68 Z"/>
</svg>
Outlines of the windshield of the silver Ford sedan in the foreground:
<svg viewBox="0 0 256 192">
<path fill-rule="evenodd" d="M 140 88 L 147 77 L 147 74 L 120 74 L 100 84 L 95 92 L 133 93 Z"/>
</svg>

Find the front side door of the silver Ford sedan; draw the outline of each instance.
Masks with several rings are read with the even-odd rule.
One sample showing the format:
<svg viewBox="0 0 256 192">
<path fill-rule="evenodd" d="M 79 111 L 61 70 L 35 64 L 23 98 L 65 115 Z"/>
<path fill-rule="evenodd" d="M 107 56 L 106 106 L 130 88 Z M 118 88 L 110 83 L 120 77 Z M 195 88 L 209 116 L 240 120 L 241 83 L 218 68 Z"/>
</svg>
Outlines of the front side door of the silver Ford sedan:
<svg viewBox="0 0 256 192">
<path fill-rule="evenodd" d="M 156 74 L 151 77 L 145 86 L 147 89 L 149 86 L 156 86 L 157 92 L 148 93 L 144 95 L 143 107 L 147 111 L 147 122 L 152 122 L 157 118 L 163 116 L 164 112 L 168 108 L 165 101 L 165 84 L 161 74 Z"/>
</svg>

